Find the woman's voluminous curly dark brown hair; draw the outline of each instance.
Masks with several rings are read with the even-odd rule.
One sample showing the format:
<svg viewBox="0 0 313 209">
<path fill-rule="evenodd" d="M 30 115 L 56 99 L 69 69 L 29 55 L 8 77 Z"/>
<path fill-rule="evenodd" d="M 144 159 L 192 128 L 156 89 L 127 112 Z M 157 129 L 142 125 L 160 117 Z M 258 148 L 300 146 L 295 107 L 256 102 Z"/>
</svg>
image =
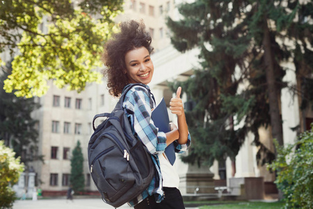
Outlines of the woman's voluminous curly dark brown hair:
<svg viewBox="0 0 313 209">
<path fill-rule="evenodd" d="M 130 50 L 145 47 L 151 54 L 153 47 L 150 46 L 152 38 L 145 30 L 143 20 L 136 22 L 129 20 L 120 24 L 120 32 L 115 33 L 113 38 L 104 45 L 102 61 L 106 65 L 103 71 L 107 78 L 109 93 L 118 97 L 123 88 L 129 84 L 126 71 L 125 54 Z"/>
</svg>

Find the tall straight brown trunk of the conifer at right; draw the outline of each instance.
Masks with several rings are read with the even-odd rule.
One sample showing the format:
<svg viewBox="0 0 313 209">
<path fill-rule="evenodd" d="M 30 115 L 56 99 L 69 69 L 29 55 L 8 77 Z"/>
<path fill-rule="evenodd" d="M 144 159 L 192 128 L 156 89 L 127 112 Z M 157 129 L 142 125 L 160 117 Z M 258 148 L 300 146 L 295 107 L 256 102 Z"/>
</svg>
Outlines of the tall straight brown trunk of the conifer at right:
<svg viewBox="0 0 313 209">
<path fill-rule="evenodd" d="M 273 61 L 274 54 L 271 50 L 271 37 L 266 18 L 264 18 L 263 47 L 266 82 L 268 86 L 268 102 L 269 114 L 271 116 L 272 137 L 273 139 L 277 139 L 280 146 L 282 146 L 284 144 L 284 141 L 282 139 L 282 120 L 280 117 L 280 109 L 278 104 L 278 88 L 275 84 L 276 77 Z"/>
</svg>

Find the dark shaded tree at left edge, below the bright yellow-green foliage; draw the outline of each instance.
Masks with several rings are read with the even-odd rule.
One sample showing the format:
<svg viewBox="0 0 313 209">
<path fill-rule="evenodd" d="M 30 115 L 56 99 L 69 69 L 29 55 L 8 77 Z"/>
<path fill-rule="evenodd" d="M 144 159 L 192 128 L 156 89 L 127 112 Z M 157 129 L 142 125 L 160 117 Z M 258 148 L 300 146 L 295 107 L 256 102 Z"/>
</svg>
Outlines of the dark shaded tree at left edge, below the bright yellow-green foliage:
<svg viewBox="0 0 313 209">
<path fill-rule="evenodd" d="M 6 93 L 3 81 L 12 70 L 10 63 L 6 65 L 6 70 L 3 67 L 0 70 L 0 140 L 13 148 L 25 164 L 41 159 L 42 156 L 38 155 L 38 130 L 35 129 L 38 121 L 31 117 L 40 105 L 33 98 L 17 98 L 14 93 Z"/>
</svg>

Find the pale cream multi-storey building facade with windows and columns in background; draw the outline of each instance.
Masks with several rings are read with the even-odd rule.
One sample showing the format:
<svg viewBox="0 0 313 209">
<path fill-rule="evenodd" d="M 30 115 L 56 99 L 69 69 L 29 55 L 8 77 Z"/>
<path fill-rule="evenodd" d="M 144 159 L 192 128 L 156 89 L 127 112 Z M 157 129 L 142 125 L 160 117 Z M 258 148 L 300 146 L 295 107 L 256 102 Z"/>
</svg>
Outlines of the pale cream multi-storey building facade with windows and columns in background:
<svg viewBox="0 0 313 209">
<path fill-rule="evenodd" d="M 180 2 L 173 0 L 127 0 L 125 1 L 125 13 L 116 17 L 116 22 L 143 19 L 147 30 L 152 34 L 154 78 L 150 88 L 152 88 L 157 102 L 161 98 L 165 98 L 168 103 L 172 98 L 173 94 L 167 86 L 168 81 L 184 81 L 193 75 L 195 68 L 199 67 L 198 49 L 181 54 L 170 45 L 165 17 L 179 18 L 175 4 Z M 290 63 L 282 64 L 288 65 L 291 69 L 295 68 Z M 293 72 L 289 70 L 284 79 L 297 84 L 296 75 Z M 80 141 L 85 160 L 83 170 L 86 190 L 97 191 L 93 180 L 90 179 L 87 159 L 88 141 L 93 133 L 92 120 L 95 114 L 110 112 L 114 108 L 117 98 L 109 95 L 105 79 L 103 79 L 102 84 L 88 84 L 86 90 L 81 93 L 58 89 L 52 82 L 49 86 L 47 94 L 42 98 L 37 98 L 41 104 L 40 109 L 33 112 L 33 117 L 39 121 L 38 155 L 45 155 L 44 162 L 32 162 L 30 164 L 36 173 L 36 185 L 42 189 L 44 195 L 60 194 L 60 192 L 66 191 L 70 185 L 72 150 L 77 141 Z M 284 142 L 288 144 L 296 140 L 296 132 L 291 131 L 291 127 L 304 124 L 303 121 L 312 121 L 313 112 L 307 109 L 303 114 L 299 108 L 300 98 L 297 95 L 291 95 L 287 90 L 282 91 L 280 99 L 282 120 L 284 121 Z M 175 116 L 170 114 L 170 120 L 175 123 Z M 97 121 L 97 123 L 100 122 Z M 270 130 L 260 129 L 259 135 L 262 143 L 273 150 Z M 264 182 L 273 183 L 274 174 L 269 173 L 265 166 L 257 165 L 258 148 L 251 145 L 252 138 L 252 135 L 248 134 L 236 157 L 235 164 L 227 158 L 223 166 L 215 162 L 210 168 L 198 168 L 184 164 L 177 157 L 175 167 L 177 167 L 181 178 L 179 189 L 182 194 L 193 193 L 194 191 L 206 193 L 206 188 L 214 187 L 213 180 L 222 180 L 222 185 L 230 186 L 232 178 L 263 177 Z"/>
</svg>

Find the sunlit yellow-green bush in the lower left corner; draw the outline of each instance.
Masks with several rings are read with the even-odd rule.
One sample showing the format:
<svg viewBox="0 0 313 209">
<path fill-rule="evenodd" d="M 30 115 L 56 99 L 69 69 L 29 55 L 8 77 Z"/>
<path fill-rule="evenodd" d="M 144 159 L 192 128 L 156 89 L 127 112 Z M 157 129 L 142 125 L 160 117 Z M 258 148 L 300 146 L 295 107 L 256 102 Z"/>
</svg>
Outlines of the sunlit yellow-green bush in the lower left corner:
<svg viewBox="0 0 313 209">
<path fill-rule="evenodd" d="M 12 186 L 19 180 L 19 174 L 24 170 L 24 164 L 19 157 L 15 158 L 12 149 L 0 141 L 0 208 L 12 208 L 16 199 Z"/>
</svg>

